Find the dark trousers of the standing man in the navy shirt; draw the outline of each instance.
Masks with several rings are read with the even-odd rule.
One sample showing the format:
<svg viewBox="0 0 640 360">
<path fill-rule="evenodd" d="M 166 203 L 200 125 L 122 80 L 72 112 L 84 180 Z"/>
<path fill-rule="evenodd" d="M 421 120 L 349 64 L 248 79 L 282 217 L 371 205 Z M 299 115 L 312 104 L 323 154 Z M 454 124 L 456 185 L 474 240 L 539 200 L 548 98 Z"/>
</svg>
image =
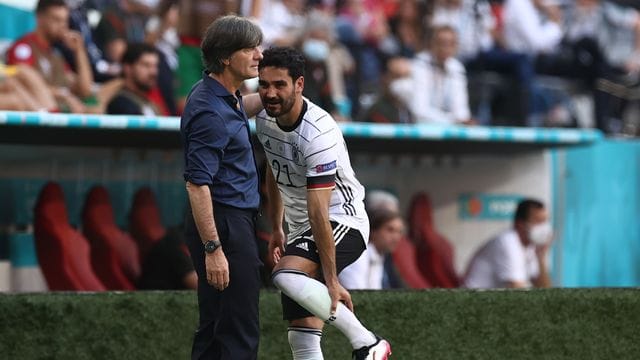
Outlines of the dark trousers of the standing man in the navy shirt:
<svg viewBox="0 0 640 360">
<path fill-rule="evenodd" d="M 207 283 L 205 253 L 191 211 L 185 236 L 198 274 L 200 322 L 192 359 L 255 360 L 260 336 L 258 300 L 260 266 L 252 210 L 214 204 L 214 218 L 229 262 L 229 287 L 218 291 Z"/>
</svg>

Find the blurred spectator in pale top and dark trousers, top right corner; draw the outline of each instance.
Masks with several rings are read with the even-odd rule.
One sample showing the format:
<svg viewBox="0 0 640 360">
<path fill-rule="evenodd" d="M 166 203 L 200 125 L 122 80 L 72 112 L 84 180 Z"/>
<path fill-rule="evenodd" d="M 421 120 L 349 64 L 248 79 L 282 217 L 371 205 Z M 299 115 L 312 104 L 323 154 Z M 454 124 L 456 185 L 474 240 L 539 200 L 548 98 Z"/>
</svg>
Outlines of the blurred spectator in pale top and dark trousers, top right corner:
<svg viewBox="0 0 640 360">
<path fill-rule="evenodd" d="M 567 20 L 567 41 L 575 49 L 574 60 L 560 71 L 580 76 L 591 90 L 596 88 L 595 117 L 600 130 L 626 131 L 622 119 L 626 94 L 640 79 L 640 14 L 608 1 L 577 0 Z"/>
</svg>

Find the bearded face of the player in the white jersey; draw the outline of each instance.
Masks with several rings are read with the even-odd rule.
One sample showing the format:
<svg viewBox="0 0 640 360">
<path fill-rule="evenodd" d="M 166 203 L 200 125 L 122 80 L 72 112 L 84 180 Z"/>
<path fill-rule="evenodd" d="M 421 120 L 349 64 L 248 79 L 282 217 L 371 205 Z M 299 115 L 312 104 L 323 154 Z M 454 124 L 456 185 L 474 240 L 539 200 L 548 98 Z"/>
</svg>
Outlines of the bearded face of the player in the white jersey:
<svg viewBox="0 0 640 360">
<path fill-rule="evenodd" d="M 267 115 L 278 117 L 291 111 L 296 101 L 302 101 L 304 78 L 294 82 L 289 70 L 268 66 L 260 70 L 258 93 Z"/>
</svg>

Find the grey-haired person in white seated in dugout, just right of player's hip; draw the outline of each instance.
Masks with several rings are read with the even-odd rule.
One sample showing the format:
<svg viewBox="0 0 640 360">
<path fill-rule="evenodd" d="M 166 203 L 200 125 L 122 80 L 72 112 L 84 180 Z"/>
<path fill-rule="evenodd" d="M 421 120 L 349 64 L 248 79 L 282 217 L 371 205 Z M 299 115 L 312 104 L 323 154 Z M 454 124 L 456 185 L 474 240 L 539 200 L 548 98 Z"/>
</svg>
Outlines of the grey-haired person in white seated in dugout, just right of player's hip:
<svg viewBox="0 0 640 360">
<path fill-rule="evenodd" d="M 367 250 L 339 275 L 340 283 L 347 289 L 388 289 L 390 275 L 387 258 L 393 253 L 404 234 L 404 223 L 399 213 L 388 209 L 369 212 L 371 234 Z M 388 261 L 391 263 L 390 261 Z"/>
</svg>

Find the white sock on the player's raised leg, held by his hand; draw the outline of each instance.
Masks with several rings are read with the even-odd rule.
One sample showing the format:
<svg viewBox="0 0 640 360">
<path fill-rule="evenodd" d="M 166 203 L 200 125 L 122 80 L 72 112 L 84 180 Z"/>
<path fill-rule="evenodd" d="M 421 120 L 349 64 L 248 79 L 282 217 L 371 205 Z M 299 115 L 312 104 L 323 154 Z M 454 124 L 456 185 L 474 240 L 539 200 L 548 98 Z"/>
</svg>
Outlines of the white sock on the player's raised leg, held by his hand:
<svg viewBox="0 0 640 360">
<path fill-rule="evenodd" d="M 273 283 L 300 306 L 342 332 L 354 349 L 376 342 L 356 316 L 342 303 L 331 316 L 331 297 L 327 287 L 301 271 L 281 270 L 273 275 Z"/>
</svg>

